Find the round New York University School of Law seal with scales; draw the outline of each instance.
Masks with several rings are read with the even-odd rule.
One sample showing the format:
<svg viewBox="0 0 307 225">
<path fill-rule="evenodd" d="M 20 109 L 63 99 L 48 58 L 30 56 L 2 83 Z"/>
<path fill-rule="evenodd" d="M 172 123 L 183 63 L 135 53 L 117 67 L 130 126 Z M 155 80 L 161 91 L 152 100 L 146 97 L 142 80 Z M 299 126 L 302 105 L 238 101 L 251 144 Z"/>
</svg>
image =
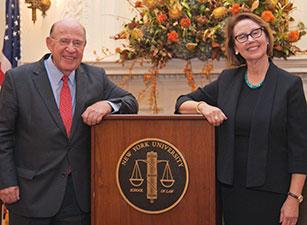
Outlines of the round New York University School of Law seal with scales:
<svg viewBox="0 0 307 225">
<path fill-rule="evenodd" d="M 118 161 L 116 178 L 124 200 L 149 214 L 175 207 L 183 198 L 189 180 L 183 155 L 174 145 L 157 138 L 130 145 Z"/>
</svg>

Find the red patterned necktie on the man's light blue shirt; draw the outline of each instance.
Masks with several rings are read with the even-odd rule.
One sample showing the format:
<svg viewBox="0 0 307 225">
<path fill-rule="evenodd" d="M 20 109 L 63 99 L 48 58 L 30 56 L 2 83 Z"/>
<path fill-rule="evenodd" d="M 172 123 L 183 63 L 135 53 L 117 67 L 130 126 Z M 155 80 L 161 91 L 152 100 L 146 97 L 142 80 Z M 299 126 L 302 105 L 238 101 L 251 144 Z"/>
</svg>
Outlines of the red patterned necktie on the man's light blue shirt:
<svg viewBox="0 0 307 225">
<path fill-rule="evenodd" d="M 68 86 L 68 76 L 62 77 L 63 86 L 60 94 L 60 113 L 62 121 L 64 123 L 67 136 L 70 135 L 70 129 L 72 124 L 72 100 L 71 93 Z"/>
</svg>

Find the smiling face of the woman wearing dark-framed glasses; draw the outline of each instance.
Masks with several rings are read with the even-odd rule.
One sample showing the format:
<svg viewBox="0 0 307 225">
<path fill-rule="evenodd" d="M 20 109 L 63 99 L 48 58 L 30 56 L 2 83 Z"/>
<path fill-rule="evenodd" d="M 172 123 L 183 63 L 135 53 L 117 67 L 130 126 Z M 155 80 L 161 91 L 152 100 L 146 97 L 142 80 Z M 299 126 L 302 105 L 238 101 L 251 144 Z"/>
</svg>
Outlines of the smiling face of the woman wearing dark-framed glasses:
<svg viewBox="0 0 307 225">
<path fill-rule="evenodd" d="M 259 33 L 257 33 L 257 31 L 259 31 L 257 30 L 258 28 L 261 28 L 261 26 L 250 19 L 243 19 L 239 21 L 233 28 L 233 36 L 237 37 L 234 40 L 235 51 L 239 52 L 247 63 L 255 60 L 258 61 L 263 58 L 268 58 L 268 40 L 263 30 L 259 36 Z M 247 40 L 243 43 L 240 43 L 239 39 L 241 38 L 238 37 L 242 37 L 244 34 L 248 35 Z"/>
</svg>

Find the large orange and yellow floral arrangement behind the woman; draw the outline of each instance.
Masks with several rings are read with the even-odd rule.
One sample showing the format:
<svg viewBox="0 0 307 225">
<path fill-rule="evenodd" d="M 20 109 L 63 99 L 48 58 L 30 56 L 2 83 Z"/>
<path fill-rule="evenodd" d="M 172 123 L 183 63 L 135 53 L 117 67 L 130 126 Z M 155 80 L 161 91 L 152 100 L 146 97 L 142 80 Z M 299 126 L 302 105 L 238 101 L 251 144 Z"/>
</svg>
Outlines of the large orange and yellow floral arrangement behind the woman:
<svg viewBox="0 0 307 225">
<path fill-rule="evenodd" d="M 117 48 L 121 61 L 143 58 L 163 67 L 171 58 L 200 60 L 224 57 L 224 24 L 229 16 L 253 12 L 274 31 L 274 56 L 287 58 L 306 34 L 304 24 L 291 27 L 294 19 L 289 0 L 128 0 L 137 15 L 115 39 L 127 39 Z M 292 25 L 292 24 L 291 24 Z"/>
</svg>

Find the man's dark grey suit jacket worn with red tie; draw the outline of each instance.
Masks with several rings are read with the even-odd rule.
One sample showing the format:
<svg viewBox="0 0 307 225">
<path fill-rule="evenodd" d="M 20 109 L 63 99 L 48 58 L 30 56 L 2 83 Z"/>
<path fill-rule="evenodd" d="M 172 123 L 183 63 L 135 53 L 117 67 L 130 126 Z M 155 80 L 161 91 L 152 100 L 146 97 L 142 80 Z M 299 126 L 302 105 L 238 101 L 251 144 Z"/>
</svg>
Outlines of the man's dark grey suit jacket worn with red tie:
<svg viewBox="0 0 307 225">
<path fill-rule="evenodd" d="M 18 185 L 21 199 L 8 207 L 29 217 L 57 213 L 69 165 L 79 206 L 89 212 L 90 127 L 81 118 L 87 106 L 108 100 L 119 103 L 118 113 L 138 110 L 135 98 L 115 86 L 103 69 L 81 64 L 68 138 L 44 67 L 47 57 L 8 71 L 0 95 L 0 188 Z"/>
</svg>

